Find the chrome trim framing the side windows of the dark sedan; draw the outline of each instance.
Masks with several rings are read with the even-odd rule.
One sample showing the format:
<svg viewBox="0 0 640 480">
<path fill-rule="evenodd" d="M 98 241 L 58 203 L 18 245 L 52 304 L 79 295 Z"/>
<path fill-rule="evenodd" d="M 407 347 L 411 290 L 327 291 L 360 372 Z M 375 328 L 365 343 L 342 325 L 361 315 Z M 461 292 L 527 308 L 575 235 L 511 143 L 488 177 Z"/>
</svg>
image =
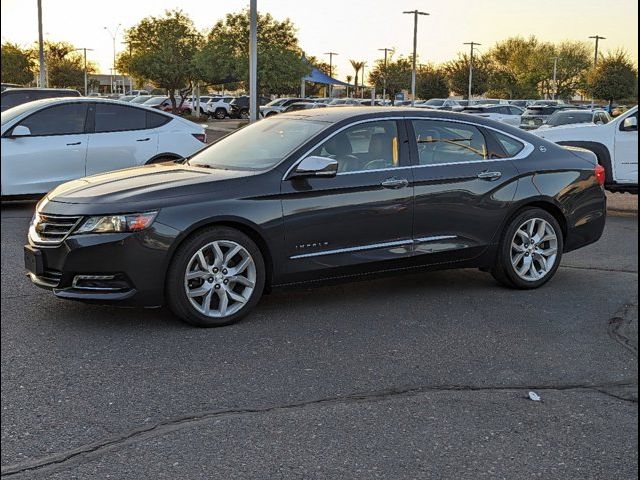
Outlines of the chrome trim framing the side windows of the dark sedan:
<svg viewBox="0 0 640 480">
<path fill-rule="evenodd" d="M 461 164 L 468 164 L 468 163 L 522 160 L 524 158 L 527 158 L 535 150 L 535 147 L 531 143 L 529 143 L 526 140 L 523 140 L 522 138 L 517 137 L 517 136 L 515 136 L 515 135 L 513 135 L 513 134 L 511 134 L 509 132 L 505 132 L 504 130 L 500 130 L 500 129 L 492 127 L 492 126 L 482 125 L 482 124 L 478 124 L 478 123 L 475 123 L 473 121 L 468 121 L 468 120 L 458 120 L 458 119 L 448 119 L 448 118 L 432 118 L 432 117 L 411 117 L 411 116 L 407 116 L 407 117 L 366 118 L 366 119 L 363 119 L 363 120 L 358 120 L 357 122 L 349 123 L 348 125 L 344 125 L 343 127 L 339 128 L 335 132 L 331 133 L 331 135 L 329 135 L 327 137 L 324 137 L 322 140 L 320 140 L 319 142 L 315 143 L 313 145 L 313 147 L 311 147 L 309 150 L 307 150 L 305 153 L 303 153 L 300 156 L 300 158 L 298 158 L 298 160 L 293 162 L 293 164 L 287 169 L 285 174 L 282 176 L 282 181 L 285 181 L 287 179 L 287 177 L 289 176 L 289 174 L 291 173 L 291 171 L 294 168 L 296 168 L 298 166 L 298 164 L 302 160 L 304 160 L 311 152 L 313 152 L 320 145 L 322 145 L 326 141 L 330 140 L 331 138 L 333 138 L 335 135 L 339 134 L 340 132 L 346 130 L 347 128 L 351 128 L 353 126 L 360 125 L 362 123 L 380 122 L 380 121 L 385 121 L 385 120 L 395 120 L 395 121 L 398 121 L 398 120 L 429 120 L 429 121 L 434 121 L 434 122 L 461 123 L 463 125 L 471 125 L 471 126 L 476 127 L 476 128 L 486 128 L 487 130 L 493 130 L 494 132 L 498 132 L 498 133 L 500 133 L 502 135 L 506 135 L 507 137 L 513 138 L 514 140 L 522 143 L 523 144 L 523 148 L 522 148 L 522 150 L 520 150 L 513 157 L 487 158 L 487 159 L 483 159 L 483 160 L 473 160 L 473 161 L 470 161 L 470 162 L 434 163 L 434 164 L 430 164 L 430 165 L 403 165 L 403 166 L 392 167 L 392 168 L 378 168 L 378 169 L 371 169 L 371 170 L 356 170 L 354 172 L 340 172 L 340 173 L 336 174 L 336 176 L 337 175 L 353 175 L 355 173 L 397 171 L 397 170 L 403 170 L 403 169 L 408 169 L 408 168 L 440 167 L 440 166 L 461 165 Z"/>
</svg>

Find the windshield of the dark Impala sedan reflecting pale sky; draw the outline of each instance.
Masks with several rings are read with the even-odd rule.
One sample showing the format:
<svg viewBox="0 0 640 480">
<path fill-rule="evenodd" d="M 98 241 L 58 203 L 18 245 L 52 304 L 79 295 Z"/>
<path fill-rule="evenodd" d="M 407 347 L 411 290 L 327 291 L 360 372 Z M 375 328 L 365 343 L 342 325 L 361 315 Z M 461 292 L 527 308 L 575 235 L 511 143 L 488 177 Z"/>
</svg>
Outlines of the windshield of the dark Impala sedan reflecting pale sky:
<svg viewBox="0 0 640 480">
<path fill-rule="evenodd" d="M 225 170 L 265 170 L 328 126 L 326 122 L 277 116 L 261 120 L 224 137 L 193 156 L 188 164 Z"/>
</svg>

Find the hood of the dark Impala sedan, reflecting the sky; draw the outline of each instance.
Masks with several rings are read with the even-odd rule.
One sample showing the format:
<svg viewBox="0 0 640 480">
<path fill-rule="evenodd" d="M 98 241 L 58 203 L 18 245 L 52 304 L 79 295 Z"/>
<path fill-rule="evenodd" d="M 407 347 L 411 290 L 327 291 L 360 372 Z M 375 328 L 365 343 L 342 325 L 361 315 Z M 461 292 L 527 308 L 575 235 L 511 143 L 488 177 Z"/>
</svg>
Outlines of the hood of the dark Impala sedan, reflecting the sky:
<svg viewBox="0 0 640 480">
<path fill-rule="evenodd" d="M 255 172 L 152 164 L 116 170 L 63 183 L 46 196 L 49 202 L 131 204 L 222 191 Z"/>
</svg>

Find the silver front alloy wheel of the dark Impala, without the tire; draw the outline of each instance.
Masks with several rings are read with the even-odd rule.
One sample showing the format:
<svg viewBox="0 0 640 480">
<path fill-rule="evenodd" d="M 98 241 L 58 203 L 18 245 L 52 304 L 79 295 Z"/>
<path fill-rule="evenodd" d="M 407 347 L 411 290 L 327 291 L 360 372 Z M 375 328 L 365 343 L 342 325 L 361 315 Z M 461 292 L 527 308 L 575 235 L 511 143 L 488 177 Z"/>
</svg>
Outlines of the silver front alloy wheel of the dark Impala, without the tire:
<svg viewBox="0 0 640 480">
<path fill-rule="evenodd" d="M 231 240 L 200 248 L 189 260 L 184 275 L 191 305 L 214 318 L 238 312 L 251 298 L 255 285 L 256 266 L 251 254 Z"/>
</svg>

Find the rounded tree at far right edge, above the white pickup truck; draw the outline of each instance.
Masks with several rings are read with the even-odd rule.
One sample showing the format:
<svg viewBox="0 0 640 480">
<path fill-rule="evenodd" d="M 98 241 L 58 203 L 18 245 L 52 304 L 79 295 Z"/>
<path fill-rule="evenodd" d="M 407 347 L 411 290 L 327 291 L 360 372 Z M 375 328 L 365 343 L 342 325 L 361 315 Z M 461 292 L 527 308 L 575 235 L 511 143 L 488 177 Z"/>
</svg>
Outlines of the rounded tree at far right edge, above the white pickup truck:
<svg viewBox="0 0 640 480">
<path fill-rule="evenodd" d="M 638 98 L 638 69 L 624 50 L 609 53 L 588 74 L 590 93 L 609 106 L 614 101 Z"/>
</svg>

